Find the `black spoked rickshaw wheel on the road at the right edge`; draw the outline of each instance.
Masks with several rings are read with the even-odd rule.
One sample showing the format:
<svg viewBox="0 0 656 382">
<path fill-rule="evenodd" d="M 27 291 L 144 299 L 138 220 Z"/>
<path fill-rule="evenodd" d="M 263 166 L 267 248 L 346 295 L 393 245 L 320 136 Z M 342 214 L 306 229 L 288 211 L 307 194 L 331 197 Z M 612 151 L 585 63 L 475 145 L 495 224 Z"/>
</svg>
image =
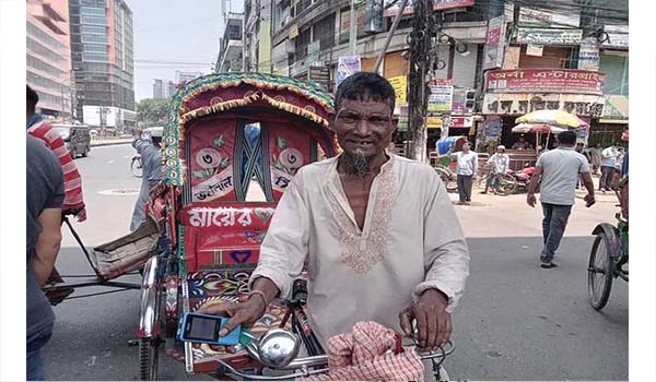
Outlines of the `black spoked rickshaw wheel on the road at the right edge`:
<svg viewBox="0 0 656 382">
<path fill-rule="evenodd" d="M 588 296 L 595 310 L 601 310 L 610 297 L 614 265 L 612 248 L 605 232 L 597 234 L 588 261 Z"/>
</svg>

